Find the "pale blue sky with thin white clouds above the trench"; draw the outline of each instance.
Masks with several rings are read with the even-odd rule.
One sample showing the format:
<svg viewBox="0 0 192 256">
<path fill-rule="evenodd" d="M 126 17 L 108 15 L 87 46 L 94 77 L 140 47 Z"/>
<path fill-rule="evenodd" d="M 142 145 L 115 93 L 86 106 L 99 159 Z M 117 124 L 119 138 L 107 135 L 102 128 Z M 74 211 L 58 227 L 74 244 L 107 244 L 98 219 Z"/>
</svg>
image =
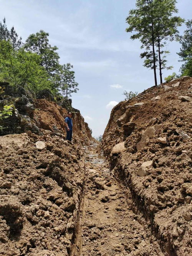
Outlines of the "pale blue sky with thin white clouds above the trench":
<svg viewBox="0 0 192 256">
<path fill-rule="evenodd" d="M 139 58 L 141 43 L 131 40 L 126 17 L 136 0 L 0 0 L 0 20 L 13 25 L 23 42 L 31 33 L 44 30 L 50 44 L 59 50 L 60 63 L 71 63 L 78 93 L 72 94 L 72 105 L 81 111 L 93 131 L 103 135 L 112 108 L 124 100 L 123 92 L 154 86 L 153 70 Z M 180 17 L 191 18 L 190 0 L 178 0 Z M 179 28 L 182 34 L 185 25 Z M 180 45 L 170 42 L 169 66 L 163 78 L 179 73 Z M 159 80 L 158 80 L 159 82 Z"/>
</svg>

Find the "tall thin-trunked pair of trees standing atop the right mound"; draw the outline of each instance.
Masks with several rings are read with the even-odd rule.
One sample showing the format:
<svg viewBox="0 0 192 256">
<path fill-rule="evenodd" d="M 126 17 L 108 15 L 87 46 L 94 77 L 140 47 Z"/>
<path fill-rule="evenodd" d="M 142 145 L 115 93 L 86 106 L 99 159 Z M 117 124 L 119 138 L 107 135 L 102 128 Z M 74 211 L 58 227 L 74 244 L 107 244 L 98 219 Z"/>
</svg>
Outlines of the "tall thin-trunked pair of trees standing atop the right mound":
<svg viewBox="0 0 192 256">
<path fill-rule="evenodd" d="M 144 66 L 154 70 L 155 85 L 157 85 L 156 69 L 159 69 L 160 82 L 162 83 L 162 69 L 171 69 L 167 66 L 167 42 L 176 39 L 177 30 L 184 19 L 172 16 L 178 10 L 176 0 L 137 0 L 136 9 L 129 11 L 126 22 L 129 27 L 126 32 L 136 32 L 131 39 L 140 39 L 141 48 L 145 49 L 140 57 L 145 58 Z"/>
</svg>

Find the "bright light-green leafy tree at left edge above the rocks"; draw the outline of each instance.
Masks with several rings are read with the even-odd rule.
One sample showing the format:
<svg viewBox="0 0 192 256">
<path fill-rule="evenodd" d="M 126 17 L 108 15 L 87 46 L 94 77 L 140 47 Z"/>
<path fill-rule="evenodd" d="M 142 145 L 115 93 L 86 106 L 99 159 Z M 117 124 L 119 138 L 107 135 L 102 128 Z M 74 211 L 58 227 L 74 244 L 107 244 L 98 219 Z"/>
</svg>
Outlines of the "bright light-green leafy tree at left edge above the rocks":
<svg viewBox="0 0 192 256">
<path fill-rule="evenodd" d="M 48 74 L 40 61 L 36 53 L 23 48 L 14 51 L 10 42 L 0 41 L 0 80 L 16 89 L 28 87 L 37 95 L 39 90 L 50 88 Z"/>
</svg>

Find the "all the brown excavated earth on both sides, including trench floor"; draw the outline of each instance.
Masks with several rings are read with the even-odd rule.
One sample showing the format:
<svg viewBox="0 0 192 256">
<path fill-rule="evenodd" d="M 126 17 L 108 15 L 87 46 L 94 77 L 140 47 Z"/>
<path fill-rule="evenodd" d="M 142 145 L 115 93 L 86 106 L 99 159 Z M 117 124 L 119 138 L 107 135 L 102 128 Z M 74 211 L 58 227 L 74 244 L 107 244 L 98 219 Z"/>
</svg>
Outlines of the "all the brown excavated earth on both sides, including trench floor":
<svg viewBox="0 0 192 256">
<path fill-rule="evenodd" d="M 0 255 L 192 254 L 191 89 L 184 77 L 120 102 L 102 145 L 71 105 L 11 95 L 16 109 L 0 136 Z"/>
</svg>

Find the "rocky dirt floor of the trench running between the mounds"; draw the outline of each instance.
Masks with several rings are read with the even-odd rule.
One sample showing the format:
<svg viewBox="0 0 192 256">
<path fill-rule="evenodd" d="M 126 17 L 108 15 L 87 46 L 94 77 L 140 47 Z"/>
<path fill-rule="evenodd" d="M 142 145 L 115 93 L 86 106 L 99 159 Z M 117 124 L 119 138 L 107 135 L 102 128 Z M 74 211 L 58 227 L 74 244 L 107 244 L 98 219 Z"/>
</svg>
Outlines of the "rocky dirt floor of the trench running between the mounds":
<svg viewBox="0 0 192 256">
<path fill-rule="evenodd" d="M 90 149 L 91 148 L 91 149 Z M 158 244 L 137 221 L 108 163 L 89 147 L 84 198 L 73 256 L 162 256 Z M 127 190 L 126 190 L 127 194 Z"/>
</svg>

